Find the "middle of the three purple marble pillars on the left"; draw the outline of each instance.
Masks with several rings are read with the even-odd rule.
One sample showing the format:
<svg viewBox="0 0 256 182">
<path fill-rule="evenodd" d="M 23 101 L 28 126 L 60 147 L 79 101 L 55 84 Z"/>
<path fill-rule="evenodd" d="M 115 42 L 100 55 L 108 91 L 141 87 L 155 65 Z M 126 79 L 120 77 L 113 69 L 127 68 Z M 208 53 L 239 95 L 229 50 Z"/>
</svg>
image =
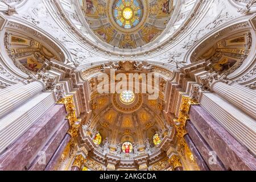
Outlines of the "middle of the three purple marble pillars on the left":
<svg viewBox="0 0 256 182">
<path fill-rule="evenodd" d="M 68 130 L 69 122 L 68 120 L 64 120 L 59 126 L 59 129 L 53 134 L 52 138 L 49 139 L 46 146 L 44 146 L 43 150 L 36 156 L 31 166 L 28 167 L 29 171 L 43 171 L 46 168 L 49 160 L 51 160 Z"/>
</svg>

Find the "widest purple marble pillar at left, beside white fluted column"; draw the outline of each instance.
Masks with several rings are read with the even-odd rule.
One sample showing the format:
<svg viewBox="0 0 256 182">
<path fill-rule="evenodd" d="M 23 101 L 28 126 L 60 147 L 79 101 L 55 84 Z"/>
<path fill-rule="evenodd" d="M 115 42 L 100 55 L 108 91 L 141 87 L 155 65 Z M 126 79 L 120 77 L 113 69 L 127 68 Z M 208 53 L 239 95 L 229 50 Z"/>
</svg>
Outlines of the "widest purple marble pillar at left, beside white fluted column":
<svg viewBox="0 0 256 182">
<path fill-rule="evenodd" d="M 0 171 L 26 170 L 28 161 L 46 142 L 55 126 L 64 121 L 66 115 L 64 105 L 55 105 L 46 111 L 39 121 L 0 155 Z"/>
</svg>

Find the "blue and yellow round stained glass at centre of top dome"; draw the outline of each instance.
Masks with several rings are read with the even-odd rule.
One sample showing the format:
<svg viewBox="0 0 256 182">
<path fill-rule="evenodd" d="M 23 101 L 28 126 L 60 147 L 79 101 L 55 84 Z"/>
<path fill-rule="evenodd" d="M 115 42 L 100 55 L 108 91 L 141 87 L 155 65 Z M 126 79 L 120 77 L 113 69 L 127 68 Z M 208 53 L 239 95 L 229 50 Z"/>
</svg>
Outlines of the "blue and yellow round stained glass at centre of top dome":
<svg viewBox="0 0 256 182">
<path fill-rule="evenodd" d="M 115 0 L 113 16 L 115 22 L 122 28 L 130 29 L 141 22 L 143 5 L 140 0 Z"/>
</svg>

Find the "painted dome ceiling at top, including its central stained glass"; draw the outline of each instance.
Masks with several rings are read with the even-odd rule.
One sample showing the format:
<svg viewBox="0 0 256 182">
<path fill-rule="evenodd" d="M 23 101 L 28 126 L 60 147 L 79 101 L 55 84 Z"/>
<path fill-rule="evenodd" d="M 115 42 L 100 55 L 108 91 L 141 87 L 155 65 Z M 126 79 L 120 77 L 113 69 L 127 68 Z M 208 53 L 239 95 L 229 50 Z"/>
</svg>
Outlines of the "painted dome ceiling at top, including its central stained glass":
<svg viewBox="0 0 256 182">
<path fill-rule="evenodd" d="M 80 6 L 94 34 L 122 49 L 152 42 L 162 34 L 173 11 L 172 0 L 81 0 Z"/>
</svg>

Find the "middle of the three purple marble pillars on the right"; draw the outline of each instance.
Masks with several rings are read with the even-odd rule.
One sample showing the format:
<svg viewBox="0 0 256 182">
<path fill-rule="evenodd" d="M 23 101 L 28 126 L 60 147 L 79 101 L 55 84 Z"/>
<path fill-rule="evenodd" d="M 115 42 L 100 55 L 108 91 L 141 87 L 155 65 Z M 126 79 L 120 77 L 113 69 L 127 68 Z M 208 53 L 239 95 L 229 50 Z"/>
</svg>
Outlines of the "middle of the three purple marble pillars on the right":
<svg viewBox="0 0 256 182">
<path fill-rule="evenodd" d="M 187 130 L 189 137 L 192 139 L 193 143 L 195 143 L 195 146 L 197 150 L 200 152 L 201 156 L 204 158 L 204 161 L 207 163 L 207 166 L 212 171 L 226 171 L 226 168 L 224 167 L 224 164 L 222 164 L 221 160 L 216 158 L 216 163 L 212 164 L 210 163 L 211 155 L 210 151 L 213 151 L 212 148 L 205 142 L 204 138 L 200 133 L 197 131 L 195 126 L 193 126 L 191 121 L 187 121 L 187 124 L 185 126 L 185 129 Z"/>
</svg>

